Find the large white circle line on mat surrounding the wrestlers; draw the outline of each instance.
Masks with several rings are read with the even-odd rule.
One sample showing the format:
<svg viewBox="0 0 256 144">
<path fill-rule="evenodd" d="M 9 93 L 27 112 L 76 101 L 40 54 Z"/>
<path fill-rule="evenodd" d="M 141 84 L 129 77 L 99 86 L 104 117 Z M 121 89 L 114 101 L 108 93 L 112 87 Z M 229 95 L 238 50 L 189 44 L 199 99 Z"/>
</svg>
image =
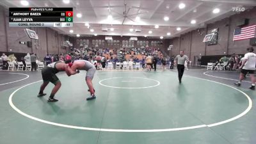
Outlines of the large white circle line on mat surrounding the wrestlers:
<svg viewBox="0 0 256 144">
<path fill-rule="evenodd" d="M 202 79 L 202 78 L 193 77 L 193 76 L 186 76 L 186 77 Z M 211 81 L 213 83 L 218 83 L 218 84 L 223 84 L 223 83 L 219 83 L 219 82 L 212 81 L 212 80 L 209 80 L 209 79 L 202 79 L 202 80 Z M 42 80 L 40 80 L 40 81 L 42 81 Z M 17 88 L 17 90 L 15 90 L 14 92 L 12 92 L 12 94 L 10 95 L 10 97 L 8 99 L 10 106 L 15 111 L 17 111 L 20 115 L 26 116 L 26 117 L 28 117 L 28 118 L 30 118 L 32 120 L 36 120 L 38 122 L 42 122 L 42 123 L 45 123 L 45 124 L 56 125 L 56 126 L 59 126 L 59 127 L 67 127 L 67 128 L 71 128 L 71 129 L 81 129 L 81 130 L 88 130 L 88 131 L 106 131 L 106 132 L 166 132 L 166 131 L 184 131 L 184 130 L 188 130 L 188 129 L 198 129 L 198 128 L 202 128 L 202 127 L 214 127 L 216 125 L 221 125 L 221 124 L 225 124 L 225 123 L 228 123 L 228 122 L 232 122 L 232 121 L 237 120 L 238 118 L 241 118 L 242 116 L 246 115 L 246 113 L 248 113 L 248 111 L 250 111 L 250 109 L 252 109 L 252 99 L 250 99 L 250 97 L 246 93 L 242 92 L 241 90 L 238 90 L 237 88 L 229 86 L 227 84 L 223 84 L 224 86 L 228 86 L 230 88 L 233 88 L 234 90 L 237 90 L 238 92 L 243 93 L 243 95 L 245 95 L 245 97 L 248 99 L 248 108 L 246 108 L 243 111 L 243 113 L 240 113 L 237 116 L 234 116 L 234 117 L 229 118 L 227 120 L 223 120 L 221 122 L 216 122 L 214 124 L 208 124 L 208 125 L 202 124 L 202 125 L 193 125 L 193 126 L 190 126 L 190 127 L 178 127 L 178 128 L 171 128 L 171 129 L 101 129 L 101 128 L 93 128 L 93 127 L 79 127 L 79 126 L 76 126 L 76 125 L 59 124 L 59 123 L 56 123 L 56 122 L 49 122 L 47 120 L 42 120 L 40 118 L 36 118 L 34 116 L 31 116 L 31 115 L 28 115 L 28 114 L 24 113 L 23 111 L 20 111 L 20 109 L 18 109 L 13 104 L 12 97 L 13 97 L 13 95 L 16 92 L 18 92 L 20 89 L 22 89 L 22 88 L 24 88 L 26 86 L 29 86 L 29 85 L 34 84 L 34 83 L 38 83 L 40 81 L 36 81 L 36 82 L 33 82 L 33 83 L 26 84 L 26 85 L 24 85 L 24 86 L 22 86 L 20 88 Z"/>
</svg>

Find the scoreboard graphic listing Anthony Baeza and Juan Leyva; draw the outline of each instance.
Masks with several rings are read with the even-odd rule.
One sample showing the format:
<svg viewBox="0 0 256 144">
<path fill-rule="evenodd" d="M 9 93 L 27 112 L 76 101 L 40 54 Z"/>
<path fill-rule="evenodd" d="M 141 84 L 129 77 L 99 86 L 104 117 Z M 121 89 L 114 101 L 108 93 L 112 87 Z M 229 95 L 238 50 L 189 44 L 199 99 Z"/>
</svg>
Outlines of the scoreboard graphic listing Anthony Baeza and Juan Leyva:
<svg viewBox="0 0 256 144">
<path fill-rule="evenodd" d="M 9 8 L 10 27 L 72 27 L 73 8 Z"/>
</svg>

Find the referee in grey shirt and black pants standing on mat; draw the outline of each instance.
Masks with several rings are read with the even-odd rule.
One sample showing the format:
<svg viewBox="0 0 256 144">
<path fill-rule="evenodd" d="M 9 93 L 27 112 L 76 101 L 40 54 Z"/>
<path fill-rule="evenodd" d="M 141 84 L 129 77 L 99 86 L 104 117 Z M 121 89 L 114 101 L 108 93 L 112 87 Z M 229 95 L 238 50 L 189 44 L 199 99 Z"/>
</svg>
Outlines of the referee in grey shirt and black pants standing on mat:
<svg viewBox="0 0 256 144">
<path fill-rule="evenodd" d="M 181 83 L 181 78 L 184 73 L 185 61 L 188 61 L 188 56 L 184 55 L 184 51 L 180 51 L 180 54 L 176 56 L 175 61 L 177 63 L 177 69 L 179 73 L 179 82 Z"/>
</svg>

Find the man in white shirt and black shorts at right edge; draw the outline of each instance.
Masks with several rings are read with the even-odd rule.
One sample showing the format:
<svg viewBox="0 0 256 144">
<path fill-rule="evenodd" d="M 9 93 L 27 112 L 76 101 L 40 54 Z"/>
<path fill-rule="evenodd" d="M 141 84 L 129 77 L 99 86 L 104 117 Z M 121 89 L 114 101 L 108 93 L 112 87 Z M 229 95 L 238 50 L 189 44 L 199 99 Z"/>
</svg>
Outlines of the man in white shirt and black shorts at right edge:
<svg viewBox="0 0 256 144">
<path fill-rule="evenodd" d="M 239 67 L 241 69 L 240 77 L 238 83 L 235 83 L 236 86 L 241 86 L 241 81 L 243 81 L 244 76 L 249 73 L 252 81 L 251 90 L 255 90 L 256 79 L 254 77 L 256 66 L 256 54 L 253 53 L 253 47 L 247 48 L 247 53 L 244 54 L 244 60 L 242 65 Z"/>
</svg>

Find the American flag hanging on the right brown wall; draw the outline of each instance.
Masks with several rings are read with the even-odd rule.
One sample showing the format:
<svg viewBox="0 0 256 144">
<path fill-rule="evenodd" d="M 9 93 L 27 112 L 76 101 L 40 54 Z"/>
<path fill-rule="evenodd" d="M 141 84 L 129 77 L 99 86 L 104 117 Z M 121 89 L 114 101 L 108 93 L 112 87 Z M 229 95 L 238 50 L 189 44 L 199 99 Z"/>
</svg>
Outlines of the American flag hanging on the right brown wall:
<svg viewBox="0 0 256 144">
<path fill-rule="evenodd" d="M 255 37 L 255 29 L 256 29 L 256 25 L 247 26 L 244 28 L 236 28 L 234 30 L 233 41 L 254 38 Z"/>
</svg>

